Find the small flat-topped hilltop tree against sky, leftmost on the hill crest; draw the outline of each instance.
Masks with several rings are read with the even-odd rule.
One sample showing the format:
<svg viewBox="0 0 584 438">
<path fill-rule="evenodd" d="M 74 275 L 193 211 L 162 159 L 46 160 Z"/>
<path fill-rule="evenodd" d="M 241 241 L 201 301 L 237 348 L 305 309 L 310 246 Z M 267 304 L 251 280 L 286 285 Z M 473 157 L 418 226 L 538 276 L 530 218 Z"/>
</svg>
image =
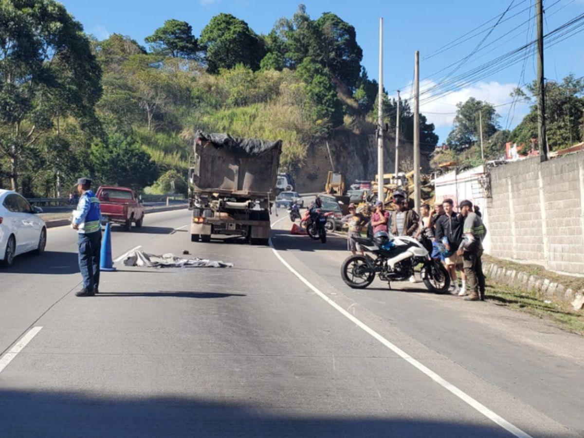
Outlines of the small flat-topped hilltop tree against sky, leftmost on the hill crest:
<svg viewBox="0 0 584 438">
<path fill-rule="evenodd" d="M 190 58 L 197 56 L 199 47 L 193 36 L 193 28 L 189 23 L 180 20 L 166 20 L 144 41 L 150 45 L 152 52 L 171 56 L 173 58 Z"/>
</svg>

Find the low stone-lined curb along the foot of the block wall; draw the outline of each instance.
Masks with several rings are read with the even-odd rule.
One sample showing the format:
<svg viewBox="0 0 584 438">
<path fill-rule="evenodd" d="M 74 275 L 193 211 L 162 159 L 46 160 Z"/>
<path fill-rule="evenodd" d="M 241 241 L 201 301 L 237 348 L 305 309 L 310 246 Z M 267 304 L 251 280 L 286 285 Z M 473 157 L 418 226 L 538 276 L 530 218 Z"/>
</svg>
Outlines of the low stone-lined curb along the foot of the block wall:
<svg viewBox="0 0 584 438">
<path fill-rule="evenodd" d="M 483 262 L 483 272 L 486 277 L 496 281 L 496 283 L 534 292 L 540 298 L 570 304 L 574 310 L 582 308 L 578 307 L 577 303 L 583 300 L 584 289 L 579 291 L 572 290 L 545 277 L 530 275 L 515 269 L 507 269 L 492 262 Z"/>
</svg>

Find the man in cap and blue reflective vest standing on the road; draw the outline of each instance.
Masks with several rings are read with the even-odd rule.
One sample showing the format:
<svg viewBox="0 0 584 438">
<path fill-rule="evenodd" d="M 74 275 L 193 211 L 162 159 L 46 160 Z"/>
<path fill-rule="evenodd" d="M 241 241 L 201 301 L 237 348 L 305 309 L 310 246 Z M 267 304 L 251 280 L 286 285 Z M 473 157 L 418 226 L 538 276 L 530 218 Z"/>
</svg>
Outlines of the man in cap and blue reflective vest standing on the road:
<svg viewBox="0 0 584 438">
<path fill-rule="evenodd" d="M 98 293 L 99 256 L 102 247 L 102 213 L 99 200 L 90 190 L 91 179 L 79 178 L 77 191 L 79 203 L 73 212 L 71 227 L 77 230 L 79 246 L 79 270 L 83 277 L 83 288 L 75 295 L 91 297 Z"/>
</svg>

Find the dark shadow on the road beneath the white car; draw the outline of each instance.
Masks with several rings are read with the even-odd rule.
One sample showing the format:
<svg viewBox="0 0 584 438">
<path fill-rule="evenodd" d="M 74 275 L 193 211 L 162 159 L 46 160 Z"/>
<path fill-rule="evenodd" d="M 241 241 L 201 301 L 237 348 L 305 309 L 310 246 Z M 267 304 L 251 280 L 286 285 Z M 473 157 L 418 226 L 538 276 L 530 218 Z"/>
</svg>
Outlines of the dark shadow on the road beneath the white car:
<svg viewBox="0 0 584 438">
<path fill-rule="evenodd" d="M 46 251 L 19 255 L 11 267 L 0 268 L 1 274 L 75 274 L 79 272 L 76 252 Z"/>
</svg>

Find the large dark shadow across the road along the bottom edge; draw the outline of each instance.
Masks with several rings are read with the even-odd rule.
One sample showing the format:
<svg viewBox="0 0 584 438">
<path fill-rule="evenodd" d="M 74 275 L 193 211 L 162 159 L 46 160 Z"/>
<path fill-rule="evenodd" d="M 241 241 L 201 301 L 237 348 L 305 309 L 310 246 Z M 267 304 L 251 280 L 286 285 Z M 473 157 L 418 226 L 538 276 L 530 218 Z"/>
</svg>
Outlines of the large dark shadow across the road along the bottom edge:
<svg viewBox="0 0 584 438">
<path fill-rule="evenodd" d="M 185 376 L 196 387 L 206 376 Z M 185 388 L 182 388 L 184 390 Z M 170 392 L 170 390 L 169 390 Z M 181 391 L 182 392 L 182 391 Z M 301 394 L 298 394 L 299 397 Z M 285 396 L 285 393 L 282 394 Z M 284 402 L 281 402 L 284 403 Z M 288 403 L 293 404 L 293 401 Z M 388 399 L 388 409 L 392 401 Z M 494 423 L 389 415 L 295 415 L 262 405 L 212 398 L 131 397 L 91 392 L 0 391 L 5 436 L 214 436 L 214 437 L 507 437 Z M 29 413 L 34 415 L 28 415 Z M 281 413 L 280 413 L 281 412 Z M 482 423 L 482 424 L 481 424 Z M 546 436 L 545 433 L 539 436 Z M 549 436 L 549 435 L 548 435 Z"/>
</svg>

